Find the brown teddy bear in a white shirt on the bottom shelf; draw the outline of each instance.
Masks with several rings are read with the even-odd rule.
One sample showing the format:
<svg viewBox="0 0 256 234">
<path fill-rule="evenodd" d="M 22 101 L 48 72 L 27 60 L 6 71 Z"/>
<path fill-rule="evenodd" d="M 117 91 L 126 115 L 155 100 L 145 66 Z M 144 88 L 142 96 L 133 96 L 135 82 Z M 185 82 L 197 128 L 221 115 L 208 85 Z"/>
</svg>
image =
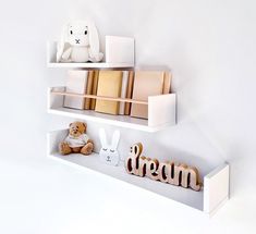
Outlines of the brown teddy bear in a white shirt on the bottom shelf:
<svg viewBox="0 0 256 234">
<path fill-rule="evenodd" d="M 73 122 L 70 124 L 69 135 L 59 144 L 61 155 L 70 155 L 72 152 L 88 156 L 93 152 L 94 143 L 86 134 L 87 125 L 83 122 Z"/>
</svg>

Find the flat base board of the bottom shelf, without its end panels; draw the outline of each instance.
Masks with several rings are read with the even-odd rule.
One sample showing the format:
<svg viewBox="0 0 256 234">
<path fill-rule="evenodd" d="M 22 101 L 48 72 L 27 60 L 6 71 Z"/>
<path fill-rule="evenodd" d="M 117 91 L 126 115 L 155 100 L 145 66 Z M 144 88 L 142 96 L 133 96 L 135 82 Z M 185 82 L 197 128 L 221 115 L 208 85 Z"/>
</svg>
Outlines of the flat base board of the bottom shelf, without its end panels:
<svg viewBox="0 0 256 234">
<path fill-rule="evenodd" d="M 192 189 L 156 182 L 147 177 L 139 177 L 136 175 L 127 174 L 123 165 L 112 167 L 100 162 L 98 153 L 94 153 L 88 157 L 78 153 L 70 156 L 60 156 L 59 153 L 53 153 L 50 155 L 50 158 L 63 163 L 80 165 L 85 169 L 93 170 L 94 172 L 100 172 L 102 174 L 110 175 L 114 178 L 127 182 L 130 184 L 162 195 L 167 198 L 180 201 L 190 207 L 203 210 L 203 192 L 194 192 Z"/>
</svg>

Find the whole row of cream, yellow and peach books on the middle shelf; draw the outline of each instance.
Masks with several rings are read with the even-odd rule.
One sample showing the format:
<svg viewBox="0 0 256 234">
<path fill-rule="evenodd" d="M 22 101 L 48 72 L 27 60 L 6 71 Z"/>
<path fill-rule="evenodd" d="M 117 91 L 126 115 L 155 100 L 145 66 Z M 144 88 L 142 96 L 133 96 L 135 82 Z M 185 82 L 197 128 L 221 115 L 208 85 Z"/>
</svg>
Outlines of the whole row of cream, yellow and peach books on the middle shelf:
<svg viewBox="0 0 256 234">
<path fill-rule="evenodd" d="M 171 75 L 166 71 L 69 71 L 66 93 L 147 101 L 169 94 Z M 89 97 L 65 96 L 64 107 L 147 119 L 146 104 Z"/>
</svg>

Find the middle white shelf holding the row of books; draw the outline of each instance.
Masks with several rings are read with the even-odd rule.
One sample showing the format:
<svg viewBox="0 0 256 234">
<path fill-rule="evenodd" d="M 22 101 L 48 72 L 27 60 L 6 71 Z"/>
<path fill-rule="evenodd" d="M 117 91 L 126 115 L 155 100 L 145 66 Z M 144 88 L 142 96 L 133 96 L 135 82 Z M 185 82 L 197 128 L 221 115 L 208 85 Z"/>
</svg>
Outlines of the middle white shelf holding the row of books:
<svg viewBox="0 0 256 234">
<path fill-rule="evenodd" d="M 150 96 L 147 103 L 148 120 L 143 120 L 131 118 L 129 115 L 111 115 L 98 113 L 92 110 L 64 108 L 64 91 L 65 87 L 49 88 L 49 113 L 145 132 L 157 132 L 175 124 L 175 94 Z"/>
</svg>

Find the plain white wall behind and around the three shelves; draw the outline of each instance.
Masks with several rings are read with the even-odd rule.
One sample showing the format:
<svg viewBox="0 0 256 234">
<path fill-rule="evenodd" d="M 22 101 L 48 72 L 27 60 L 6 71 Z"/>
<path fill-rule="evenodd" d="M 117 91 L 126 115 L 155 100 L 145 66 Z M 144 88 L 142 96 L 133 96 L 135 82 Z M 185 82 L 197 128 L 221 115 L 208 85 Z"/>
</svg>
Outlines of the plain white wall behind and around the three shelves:
<svg viewBox="0 0 256 234">
<path fill-rule="evenodd" d="M 5 1 L 0 8 L 0 233 L 253 233 L 256 208 L 256 3 L 253 0 Z M 231 200 L 211 219 L 166 198 L 46 158 L 46 40 L 92 16 L 101 37 L 134 36 L 137 65 L 173 72 L 179 124 L 144 139 L 147 155 L 231 164 Z M 95 135 L 98 125 L 88 123 Z M 111 127 L 107 127 L 112 133 Z M 121 130 L 124 133 L 124 130 Z M 202 164 L 206 164 L 205 168 Z"/>
</svg>

